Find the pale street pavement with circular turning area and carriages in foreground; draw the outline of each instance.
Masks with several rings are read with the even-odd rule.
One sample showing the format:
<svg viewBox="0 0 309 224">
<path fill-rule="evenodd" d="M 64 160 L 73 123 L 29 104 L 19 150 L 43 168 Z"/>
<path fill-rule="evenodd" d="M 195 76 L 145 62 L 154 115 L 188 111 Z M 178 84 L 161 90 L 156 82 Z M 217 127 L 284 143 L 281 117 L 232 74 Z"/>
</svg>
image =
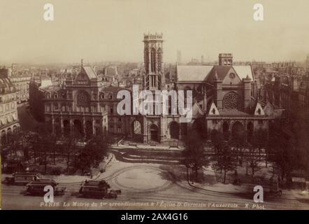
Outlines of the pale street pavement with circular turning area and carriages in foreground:
<svg viewBox="0 0 309 224">
<path fill-rule="evenodd" d="M 308 201 L 285 195 L 256 204 L 253 195 L 194 188 L 186 180 L 175 179 L 167 165 L 113 159 L 96 179 L 106 180 L 122 193 L 113 200 L 78 197 L 80 179 L 73 181 L 70 176 L 71 182 L 59 184 L 66 193 L 56 196 L 55 203 L 44 204 L 43 197 L 24 196 L 25 186 L 2 185 L 2 209 L 309 209 Z"/>
</svg>

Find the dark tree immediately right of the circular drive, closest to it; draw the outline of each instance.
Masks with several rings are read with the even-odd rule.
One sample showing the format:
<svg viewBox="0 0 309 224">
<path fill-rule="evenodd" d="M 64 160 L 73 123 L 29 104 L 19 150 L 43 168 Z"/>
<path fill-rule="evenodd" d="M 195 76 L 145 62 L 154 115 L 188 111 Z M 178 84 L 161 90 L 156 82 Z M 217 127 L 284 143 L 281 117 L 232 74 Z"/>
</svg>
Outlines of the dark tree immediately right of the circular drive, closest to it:
<svg viewBox="0 0 309 224">
<path fill-rule="evenodd" d="M 196 132 L 188 134 L 185 139 L 185 150 L 182 151 L 185 158 L 184 162 L 187 167 L 192 167 L 196 174 L 196 181 L 198 180 L 198 171 L 203 166 L 208 166 L 209 161 L 204 155 L 203 139 Z"/>
</svg>

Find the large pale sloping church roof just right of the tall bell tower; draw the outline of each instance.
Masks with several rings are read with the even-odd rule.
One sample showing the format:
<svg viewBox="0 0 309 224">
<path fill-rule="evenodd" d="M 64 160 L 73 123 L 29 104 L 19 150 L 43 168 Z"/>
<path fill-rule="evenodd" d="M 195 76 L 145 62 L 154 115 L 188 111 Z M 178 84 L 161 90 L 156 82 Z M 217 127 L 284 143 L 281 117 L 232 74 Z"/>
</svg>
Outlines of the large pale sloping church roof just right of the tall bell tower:
<svg viewBox="0 0 309 224">
<path fill-rule="evenodd" d="M 209 65 L 177 65 L 178 81 L 203 81 L 213 69 Z"/>
</svg>

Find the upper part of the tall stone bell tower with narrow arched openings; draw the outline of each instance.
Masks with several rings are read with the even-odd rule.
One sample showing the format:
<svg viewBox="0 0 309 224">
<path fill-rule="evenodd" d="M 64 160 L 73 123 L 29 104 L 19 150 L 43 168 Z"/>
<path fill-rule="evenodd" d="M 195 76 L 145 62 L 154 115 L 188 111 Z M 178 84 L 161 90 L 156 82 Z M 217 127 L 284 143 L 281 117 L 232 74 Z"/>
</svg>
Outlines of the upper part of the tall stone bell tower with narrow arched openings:
<svg viewBox="0 0 309 224">
<path fill-rule="evenodd" d="M 147 90 L 164 86 L 163 34 L 144 34 L 145 85 Z"/>
</svg>

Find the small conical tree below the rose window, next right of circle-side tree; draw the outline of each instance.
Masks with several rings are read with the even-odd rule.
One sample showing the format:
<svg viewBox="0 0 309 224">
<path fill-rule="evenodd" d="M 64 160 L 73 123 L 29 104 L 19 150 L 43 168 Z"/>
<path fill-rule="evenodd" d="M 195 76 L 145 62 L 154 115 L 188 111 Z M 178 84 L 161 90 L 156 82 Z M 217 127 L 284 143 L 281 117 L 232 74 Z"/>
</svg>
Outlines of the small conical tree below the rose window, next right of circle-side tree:
<svg viewBox="0 0 309 224">
<path fill-rule="evenodd" d="M 222 146 L 221 150 L 218 152 L 217 162 L 212 165 L 213 169 L 216 171 L 224 171 L 223 183 L 226 183 L 227 172 L 234 171 L 237 167 L 237 162 L 233 156 L 231 148 L 226 143 Z"/>
</svg>

